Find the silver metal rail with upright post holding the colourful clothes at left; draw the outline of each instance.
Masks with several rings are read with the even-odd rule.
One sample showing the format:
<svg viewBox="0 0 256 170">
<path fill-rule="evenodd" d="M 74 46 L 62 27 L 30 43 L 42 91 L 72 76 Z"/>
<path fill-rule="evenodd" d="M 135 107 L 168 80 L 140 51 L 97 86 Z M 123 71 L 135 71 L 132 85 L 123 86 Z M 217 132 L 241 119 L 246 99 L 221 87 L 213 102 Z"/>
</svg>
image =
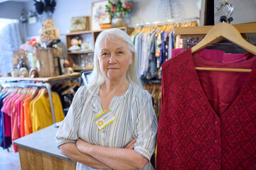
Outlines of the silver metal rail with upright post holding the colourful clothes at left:
<svg viewBox="0 0 256 170">
<path fill-rule="evenodd" d="M 48 91 L 49 99 L 50 99 L 50 111 L 52 113 L 52 118 L 53 118 L 53 125 L 55 128 L 58 128 L 58 125 L 56 125 L 55 121 L 55 114 L 54 114 L 54 108 L 53 108 L 53 96 L 51 94 L 51 86 L 49 83 L 16 83 L 16 82 L 0 82 L 1 86 L 6 88 L 6 87 L 28 87 L 28 86 L 38 86 L 38 87 L 44 87 Z"/>
</svg>

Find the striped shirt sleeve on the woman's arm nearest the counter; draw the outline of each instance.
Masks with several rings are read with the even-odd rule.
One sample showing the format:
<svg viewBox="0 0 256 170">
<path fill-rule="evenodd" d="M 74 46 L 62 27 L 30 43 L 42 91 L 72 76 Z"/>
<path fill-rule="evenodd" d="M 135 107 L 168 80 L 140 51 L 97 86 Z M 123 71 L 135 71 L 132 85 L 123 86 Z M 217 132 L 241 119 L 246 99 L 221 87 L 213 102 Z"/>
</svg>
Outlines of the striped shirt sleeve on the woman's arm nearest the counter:
<svg viewBox="0 0 256 170">
<path fill-rule="evenodd" d="M 78 140 L 78 126 L 80 122 L 80 115 L 82 111 L 82 89 L 83 86 L 75 93 L 73 101 L 68 113 L 65 116 L 63 123 L 61 123 L 56 134 L 58 148 L 67 142 L 75 143 Z"/>
</svg>

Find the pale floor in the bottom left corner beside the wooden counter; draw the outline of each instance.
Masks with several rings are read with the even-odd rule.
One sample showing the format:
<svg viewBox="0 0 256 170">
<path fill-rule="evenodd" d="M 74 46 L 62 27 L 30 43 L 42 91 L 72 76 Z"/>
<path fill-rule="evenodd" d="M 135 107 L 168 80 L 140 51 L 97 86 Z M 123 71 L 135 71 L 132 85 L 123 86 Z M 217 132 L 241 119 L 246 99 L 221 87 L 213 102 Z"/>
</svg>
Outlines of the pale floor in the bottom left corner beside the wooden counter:
<svg viewBox="0 0 256 170">
<path fill-rule="evenodd" d="M 19 161 L 18 152 L 14 153 L 13 147 L 7 149 L 0 147 L 0 170 L 20 170 L 21 164 Z"/>
</svg>

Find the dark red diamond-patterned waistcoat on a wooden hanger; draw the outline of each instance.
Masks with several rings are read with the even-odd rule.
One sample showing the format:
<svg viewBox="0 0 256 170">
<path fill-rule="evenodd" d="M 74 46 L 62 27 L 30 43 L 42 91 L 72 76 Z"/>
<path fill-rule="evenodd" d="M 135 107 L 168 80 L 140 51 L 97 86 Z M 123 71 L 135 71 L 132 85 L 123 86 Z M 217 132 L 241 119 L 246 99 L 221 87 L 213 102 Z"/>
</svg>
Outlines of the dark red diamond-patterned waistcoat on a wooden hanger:
<svg viewBox="0 0 256 170">
<path fill-rule="evenodd" d="M 188 49 L 162 65 L 157 169 L 256 169 L 256 57 L 247 53 L 230 55 L 233 63 L 213 62 L 225 55 L 211 51 L 192 57 Z"/>
</svg>

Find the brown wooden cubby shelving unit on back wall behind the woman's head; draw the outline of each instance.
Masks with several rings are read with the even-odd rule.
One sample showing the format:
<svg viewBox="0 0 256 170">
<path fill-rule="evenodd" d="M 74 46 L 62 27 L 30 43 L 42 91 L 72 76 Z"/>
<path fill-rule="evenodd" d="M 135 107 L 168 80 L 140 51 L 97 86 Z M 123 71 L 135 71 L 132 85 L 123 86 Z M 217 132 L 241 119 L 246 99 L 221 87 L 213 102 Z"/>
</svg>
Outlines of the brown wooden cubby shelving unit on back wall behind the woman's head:
<svg viewBox="0 0 256 170">
<path fill-rule="evenodd" d="M 132 33 L 132 31 L 134 30 L 134 28 L 128 28 L 128 27 L 119 27 L 119 29 L 124 30 L 128 35 L 130 35 Z M 93 52 L 92 50 L 90 50 L 90 51 L 77 51 L 77 52 L 68 51 L 68 48 L 71 47 L 72 38 L 75 38 L 76 36 L 80 36 L 84 40 L 84 38 L 90 37 L 90 38 L 92 38 L 92 43 L 93 43 L 92 47 L 94 47 L 96 38 L 101 32 L 102 32 L 102 30 L 85 30 L 85 31 L 66 34 L 67 59 L 70 62 L 71 67 L 73 67 L 73 64 L 75 63 L 76 57 L 78 57 L 79 55 L 86 55 L 88 53 Z M 78 64 L 78 63 L 75 63 L 75 64 Z M 77 72 L 80 72 L 82 70 L 86 70 L 86 69 L 82 69 L 82 68 L 73 68 L 73 69 Z"/>
</svg>

